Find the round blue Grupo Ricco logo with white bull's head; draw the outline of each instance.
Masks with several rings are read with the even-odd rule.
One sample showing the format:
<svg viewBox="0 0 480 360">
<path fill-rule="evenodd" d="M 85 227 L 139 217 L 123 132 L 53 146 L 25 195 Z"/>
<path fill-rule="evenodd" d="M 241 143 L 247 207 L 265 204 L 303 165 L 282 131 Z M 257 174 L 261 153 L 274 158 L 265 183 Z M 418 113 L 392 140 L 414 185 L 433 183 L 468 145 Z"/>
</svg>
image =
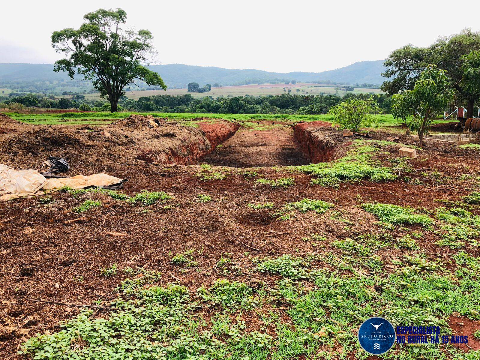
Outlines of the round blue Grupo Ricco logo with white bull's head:
<svg viewBox="0 0 480 360">
<path fill-rule="evenodd" d="M 371 317 L 360 325 L 360 346 L 373 355 L 387 352 L 395 344 L 395 328 L 383 317 Z"/>
</svg>

